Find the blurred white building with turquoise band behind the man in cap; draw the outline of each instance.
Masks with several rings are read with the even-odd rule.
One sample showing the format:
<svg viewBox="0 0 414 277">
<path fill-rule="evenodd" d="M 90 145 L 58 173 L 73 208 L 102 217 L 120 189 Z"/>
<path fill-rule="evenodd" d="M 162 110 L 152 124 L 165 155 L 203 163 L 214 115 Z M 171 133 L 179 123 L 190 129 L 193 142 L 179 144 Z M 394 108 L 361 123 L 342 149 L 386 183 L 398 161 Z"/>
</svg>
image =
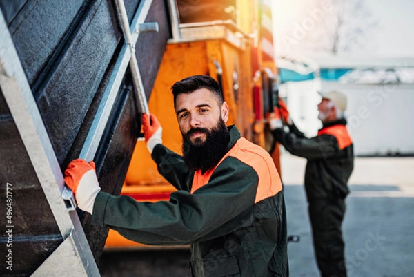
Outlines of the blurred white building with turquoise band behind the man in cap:
<svg viewBox="0 0 414 277">
<path fill-rule="evenodd" d="M 324 57 L 311 65 L 279 61 L 279 95 L 308 136 L 321 127 L 318 90 L 341 90 L 355 155 L 414 155 L 414 59 Z M 308 70 L 308 71 L 306 71 Z"/>
</svg>

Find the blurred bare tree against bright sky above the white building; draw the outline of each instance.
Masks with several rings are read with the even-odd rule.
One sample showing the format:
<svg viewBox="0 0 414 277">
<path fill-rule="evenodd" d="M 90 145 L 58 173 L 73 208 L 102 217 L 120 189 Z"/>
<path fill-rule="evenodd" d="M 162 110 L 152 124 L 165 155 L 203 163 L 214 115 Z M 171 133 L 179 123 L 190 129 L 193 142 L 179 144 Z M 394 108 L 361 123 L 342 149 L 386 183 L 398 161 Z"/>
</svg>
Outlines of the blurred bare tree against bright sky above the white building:
<svg viewBox="0 0 414 277">
<path fill-rule="evenodd" d="M 365 0 L 311 0 L 299 9 L 282 35 L 286 49 L 334 55 L 369 50 L 377 21 Z"/>
</svg>

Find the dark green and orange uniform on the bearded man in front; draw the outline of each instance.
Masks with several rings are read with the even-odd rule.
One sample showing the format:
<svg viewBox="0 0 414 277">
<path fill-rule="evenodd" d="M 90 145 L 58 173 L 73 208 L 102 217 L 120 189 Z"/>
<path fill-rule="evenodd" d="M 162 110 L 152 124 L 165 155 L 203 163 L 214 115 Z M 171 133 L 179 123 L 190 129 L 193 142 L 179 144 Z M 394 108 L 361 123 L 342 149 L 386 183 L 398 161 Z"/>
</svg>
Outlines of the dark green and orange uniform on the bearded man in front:
<svg viewBox="0 0 414 277">
<path fill-rule="evenodd" d="M 228 152 L 206 172 L 188 171 L 181 155 L 158 144 L 152 159 L 178 189 L 170 200 L 137 202 L 99 192 L 92 221 L 141 243 L 190 244 L 193 276 L 288 276 L 279 174 L 264 149 L 235 126 L 229 133 Z"/>
</svg>

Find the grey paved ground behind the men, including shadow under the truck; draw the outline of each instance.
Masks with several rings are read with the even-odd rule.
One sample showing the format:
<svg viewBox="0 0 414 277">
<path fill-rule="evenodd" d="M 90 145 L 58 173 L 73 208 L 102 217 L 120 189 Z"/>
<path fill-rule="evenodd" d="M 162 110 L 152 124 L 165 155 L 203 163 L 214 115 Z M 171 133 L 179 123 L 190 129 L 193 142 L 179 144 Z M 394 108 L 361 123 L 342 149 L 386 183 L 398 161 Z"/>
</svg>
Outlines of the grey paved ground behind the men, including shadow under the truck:
<svg viewBox="0 0 414 277">
<path fill-rule="evenodd" d="M 304 195 L 306 160 L 282 155 L 290 276 L 319 276 Z M 358 157 L 344 220 L 350 277 L 414 276 L 414 157 Z M 106 253 L 102 276 L 187 277 L 188 251 Z"/>
</svg>

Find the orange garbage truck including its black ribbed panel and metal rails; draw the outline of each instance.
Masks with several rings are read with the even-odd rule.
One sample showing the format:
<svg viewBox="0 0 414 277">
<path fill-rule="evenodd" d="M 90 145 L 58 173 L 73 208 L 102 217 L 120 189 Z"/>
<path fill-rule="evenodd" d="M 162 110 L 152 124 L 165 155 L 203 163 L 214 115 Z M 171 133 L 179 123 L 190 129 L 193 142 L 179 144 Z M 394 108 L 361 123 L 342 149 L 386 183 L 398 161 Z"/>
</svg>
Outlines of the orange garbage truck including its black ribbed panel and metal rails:
<svg viewBox="0 0 414 277">
<path fill-rule="evenodd" d="M 139 133 L 150 111 L 181 153 L 179 79 L 215 78 L 228 123 L 270 149 L 271 28 L 270 0 L 0 1 L 0 276 L 99 276 L 104 249 L 143 247 L 93 225 L 63 171 L 94 160 L 102 191 L 168 200 Z"/>
</svg>

